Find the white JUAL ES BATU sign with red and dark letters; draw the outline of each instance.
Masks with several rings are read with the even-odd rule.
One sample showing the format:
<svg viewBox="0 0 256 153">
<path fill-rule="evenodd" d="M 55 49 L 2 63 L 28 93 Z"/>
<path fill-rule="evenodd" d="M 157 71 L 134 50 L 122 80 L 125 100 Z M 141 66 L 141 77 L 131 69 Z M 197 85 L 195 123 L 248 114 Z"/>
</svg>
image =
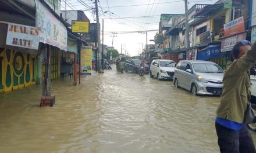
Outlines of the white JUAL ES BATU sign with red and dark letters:
<svg viewBox="0 0 256 153">
<path fill-rule="evenodd" d="M 38 28 L 9 23 L 6 45 L 37 50 L 39 45 L 39 34 L 40 31 Z"/>
</svg>

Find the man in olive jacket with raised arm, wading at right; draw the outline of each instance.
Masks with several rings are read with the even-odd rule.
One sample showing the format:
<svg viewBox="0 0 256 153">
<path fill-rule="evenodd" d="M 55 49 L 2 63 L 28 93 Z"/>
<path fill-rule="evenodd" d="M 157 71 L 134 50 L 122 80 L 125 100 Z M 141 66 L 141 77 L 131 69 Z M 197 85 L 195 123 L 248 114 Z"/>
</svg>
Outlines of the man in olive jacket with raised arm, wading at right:
<svg viewBox="0 0 256 153">
<path fill-rule="evenodd" d="M 244 121 L 251 97 L 250 68 L 256 64 L 256 43 L 237 42 L 232 50 L 232 63 L 223 77 L 223 93 L 215 120 L 218 144 L 222 153 L 255 153 L 251 134 Z"/>
</svg>

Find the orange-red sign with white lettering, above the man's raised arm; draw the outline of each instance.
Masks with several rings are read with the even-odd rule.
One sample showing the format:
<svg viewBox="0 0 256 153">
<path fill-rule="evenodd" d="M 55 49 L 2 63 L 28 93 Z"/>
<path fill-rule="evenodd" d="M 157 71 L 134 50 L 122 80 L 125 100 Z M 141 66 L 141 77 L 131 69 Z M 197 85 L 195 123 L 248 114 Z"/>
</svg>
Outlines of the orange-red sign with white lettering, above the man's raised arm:
<svg viewBox="0 0 256 153">
<path fill-rule="evenodd" d="M 224 24 L 224 36 L 229 37 L 244 32 L 244 17 L 239 17 L 236 20 Z"/>
</svg>

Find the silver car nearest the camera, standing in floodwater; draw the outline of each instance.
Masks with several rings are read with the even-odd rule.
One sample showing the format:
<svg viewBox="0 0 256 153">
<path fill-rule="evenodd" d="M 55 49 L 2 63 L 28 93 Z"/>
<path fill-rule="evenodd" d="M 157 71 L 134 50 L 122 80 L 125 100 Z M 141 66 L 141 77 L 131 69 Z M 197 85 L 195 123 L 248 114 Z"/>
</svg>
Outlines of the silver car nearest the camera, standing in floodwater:
<svg viewBox="0 0 256 153">
<path fill-rule="evenodd" d="M 173 84 L 189 90 L 193 95 L 221 95 L 223 75 L 222 68 L 211 61 L 180 61 L 175 68 Z"/>
</svg>

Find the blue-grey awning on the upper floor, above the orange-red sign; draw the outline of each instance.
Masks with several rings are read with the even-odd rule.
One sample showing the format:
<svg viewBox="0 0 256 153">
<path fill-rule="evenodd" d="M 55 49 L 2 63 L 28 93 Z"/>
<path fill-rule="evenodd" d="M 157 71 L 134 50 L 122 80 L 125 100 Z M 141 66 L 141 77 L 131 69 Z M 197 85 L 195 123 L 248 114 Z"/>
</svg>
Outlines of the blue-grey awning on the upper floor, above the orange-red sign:
<svg viewBox="0 0 256 153">
<path fill-rule="evenodd" d="M 213 5 L 207 5 L 205 6 L 203 9 L 201 9 L 197 14 L 195 14 L 195 18 L 199 17 L 209 17 L 212 16 L 216 13 L 218 13 L 219 11 L 221 11 L 224 7 L 223 7 L 223 3 L 216 3 Z"/>
</svg>

